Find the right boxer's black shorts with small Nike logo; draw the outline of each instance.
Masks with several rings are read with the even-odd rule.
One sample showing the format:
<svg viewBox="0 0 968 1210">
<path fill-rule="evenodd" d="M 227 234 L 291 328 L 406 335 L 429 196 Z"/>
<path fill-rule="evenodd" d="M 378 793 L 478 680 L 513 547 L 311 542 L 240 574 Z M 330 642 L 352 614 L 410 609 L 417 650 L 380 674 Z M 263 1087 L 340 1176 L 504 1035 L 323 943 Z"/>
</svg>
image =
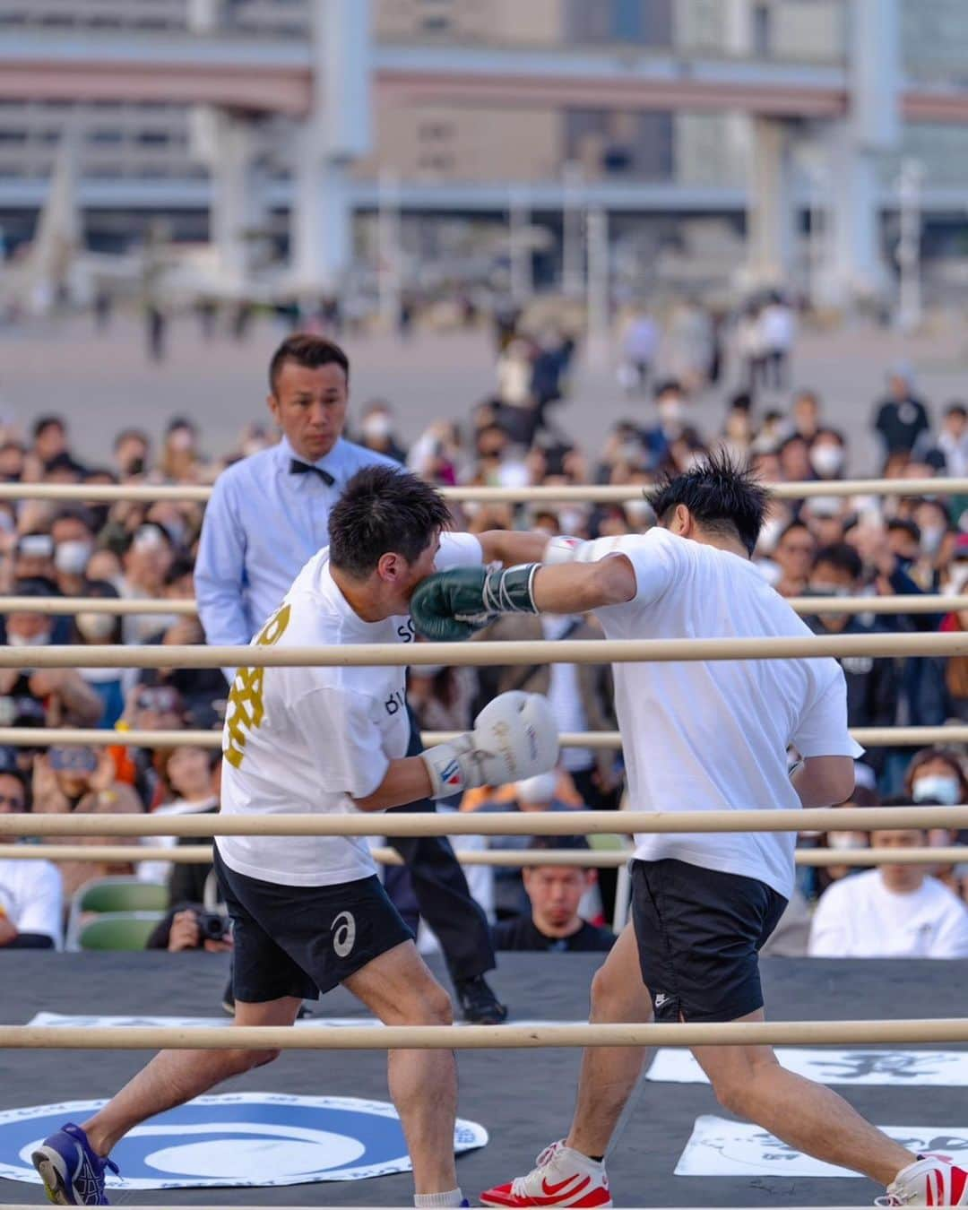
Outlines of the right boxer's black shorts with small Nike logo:
<svg viewBox="0 0 968 1210">
<path fill-rule="evenodd" d="M 762 1008 L 759 951 L 785 906 L 756 878 L 633 862 L 632 920 L 656 1020 L 734 1021 Z"/>
</svg>

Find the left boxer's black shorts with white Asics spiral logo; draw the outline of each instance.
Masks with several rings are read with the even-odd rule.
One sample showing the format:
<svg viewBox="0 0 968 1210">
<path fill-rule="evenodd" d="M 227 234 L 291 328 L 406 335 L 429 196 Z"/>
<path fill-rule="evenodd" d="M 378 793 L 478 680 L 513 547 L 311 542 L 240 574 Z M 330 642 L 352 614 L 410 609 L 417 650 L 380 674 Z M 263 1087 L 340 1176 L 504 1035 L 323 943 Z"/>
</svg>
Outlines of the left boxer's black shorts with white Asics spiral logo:
<svg viewBox="0 0 968 1210">
<path fill-rule="evenodd" d="M 316 999 L 414 934 L 374 874 L 330 887 L 288 887 L 214 857 L 232 920 L 232 991 L 247 1004 Z"/>
</svg>

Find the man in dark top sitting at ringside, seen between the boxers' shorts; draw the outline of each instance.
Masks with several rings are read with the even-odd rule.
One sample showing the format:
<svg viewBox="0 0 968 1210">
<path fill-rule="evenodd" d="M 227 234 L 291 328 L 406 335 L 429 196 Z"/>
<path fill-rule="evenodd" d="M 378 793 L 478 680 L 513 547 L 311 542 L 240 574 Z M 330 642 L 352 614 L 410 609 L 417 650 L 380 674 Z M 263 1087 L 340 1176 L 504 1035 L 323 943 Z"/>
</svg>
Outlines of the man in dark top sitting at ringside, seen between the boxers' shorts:
<svg viewBox="0 0 968 1210">
<path fill-rule="evenodd" d="M 532 836 L 528 848 L 587 851 L 588 841 L 583 836 Z M 582 895 L 595 883 L 594 870 L 576 865 L 535 864 L 525 866 L 523 872 L 531 914 L 495 924 L 491 929 L 495 950 L 604 953 L 615 945 L 613 933 L 589 924 L 578 915 Z"/>
</svg>

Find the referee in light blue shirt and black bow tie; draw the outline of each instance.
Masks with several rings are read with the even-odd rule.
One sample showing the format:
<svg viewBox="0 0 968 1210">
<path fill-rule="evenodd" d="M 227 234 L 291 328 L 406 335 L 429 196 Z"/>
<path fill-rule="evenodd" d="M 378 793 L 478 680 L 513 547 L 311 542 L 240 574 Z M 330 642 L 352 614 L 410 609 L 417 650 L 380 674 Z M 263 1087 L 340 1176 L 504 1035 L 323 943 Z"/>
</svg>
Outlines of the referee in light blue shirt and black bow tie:
<svg viewBox="0 0 968 1210">
<path fill-rule="evenodd" d="M 289 336 L 269 367 L 269 410 L 282 440 L 229 467 L 204 513 L 195 592 L 206 640 L 242 646 L 278 606 L 300 569 L 329 544 L 329 513 L 357 471 L 391 459 L 346 440 L 350 361 L 333 341 Z M 411 726 L 410 755 L 421 750 Z M 431 802 L 408 811 L 432 811 Z M 450 841 L 394 837 L 420 915 L 437 934 L 467 1021 L 507 1018 L 484 974 L 496 966 L 488 921 Z"/>
</svg>

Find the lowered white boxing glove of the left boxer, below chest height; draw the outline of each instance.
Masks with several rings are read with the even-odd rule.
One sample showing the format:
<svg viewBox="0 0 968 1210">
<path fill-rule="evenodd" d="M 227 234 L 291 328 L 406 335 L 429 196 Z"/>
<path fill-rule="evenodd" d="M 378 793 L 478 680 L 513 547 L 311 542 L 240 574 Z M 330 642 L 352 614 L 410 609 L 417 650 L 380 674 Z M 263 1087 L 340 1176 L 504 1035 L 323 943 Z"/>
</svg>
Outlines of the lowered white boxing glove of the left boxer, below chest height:
<svg viewBox="0 0 968 1210">
<path fill-rule="evenodd" d="M 474 719 L 474 730 L 420 754 L 431 797 L 449 799 L 477 785 L 503 785 L 558 762 L 558 725 L 548 699 L 514 690 L 501 693 Z"/>
</svg>

